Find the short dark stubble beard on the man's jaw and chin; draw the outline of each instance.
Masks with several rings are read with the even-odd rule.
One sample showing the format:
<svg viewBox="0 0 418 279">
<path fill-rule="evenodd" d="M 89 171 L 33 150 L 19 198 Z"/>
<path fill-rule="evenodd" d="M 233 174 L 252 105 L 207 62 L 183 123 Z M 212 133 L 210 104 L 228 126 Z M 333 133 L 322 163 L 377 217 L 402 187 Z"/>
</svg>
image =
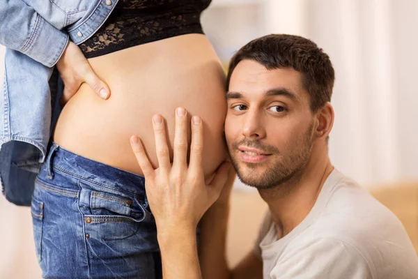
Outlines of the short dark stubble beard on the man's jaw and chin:
<svg viewBox="0 0 418 279">
<path fill-rule="evenodd" d="M 257 171 L 259 163 L 238 163 L 239 159 L 235 159 L 234 156 L 231 156 L 231 162 L 235 167 L 238 178 L 242 183 L 252 186 L 259 190 L 261 189 L 270 189 L 290 181 L 291 179 L 297 179 L 303 173 L 303 170 L 307 166 L 309 157 L 311 155 L 312 147 L 312 130 L 314 124 L 312 123 L 304 135 L 298 139 L 297 150 L 290 151 L 290 153 L 285 154 L 286 156 L 281 156 L 282 160 L 272 162 L 263 173 Z M 249 144 L 249 141 L 245 141 Z M 238 150 L 239 144 L 232 144 L 232 151 Z M 261 146 L 259 143 L 249 144 L 249 146 Z M 231 147 L 230 147 L 231 148 Z M 231 151 L 231 150 L 230 150 Z M 242 172 L 242 167 L 247 169 L 246 173 Z M 252 169 L 252 171 L 248 171 Z"/>
</svg>

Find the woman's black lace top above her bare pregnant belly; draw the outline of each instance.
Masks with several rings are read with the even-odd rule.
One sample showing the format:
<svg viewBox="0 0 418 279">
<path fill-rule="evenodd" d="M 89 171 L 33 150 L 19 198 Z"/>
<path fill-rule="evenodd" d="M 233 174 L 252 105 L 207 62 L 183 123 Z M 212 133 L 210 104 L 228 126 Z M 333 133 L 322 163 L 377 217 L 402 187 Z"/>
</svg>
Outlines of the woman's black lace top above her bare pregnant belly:
<svg viewBox="0 0 418 279">
<path fill-rule="evenodd" d="M 212 0 L 119 0 L 102 27 L 80 44 L 86 58 L 173 36 L 203 33 L 200 15 Z"/>
</svg>

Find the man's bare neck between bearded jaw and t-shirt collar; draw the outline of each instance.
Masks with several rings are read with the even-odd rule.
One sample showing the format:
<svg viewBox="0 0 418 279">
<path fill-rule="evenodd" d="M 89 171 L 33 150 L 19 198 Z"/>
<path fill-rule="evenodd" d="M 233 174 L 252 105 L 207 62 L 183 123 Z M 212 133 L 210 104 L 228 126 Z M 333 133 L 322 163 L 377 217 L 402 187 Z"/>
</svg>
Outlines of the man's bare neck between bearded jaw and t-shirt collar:
<svg viewBox="0 0 418 279">
<path fill-rule="evenodd" d="M 327 153 L 323 154 L 318 157 L 313 152 L 307 166 L 286 183 L 258 190 L 270 208 L 278 239 L 299 225 L 314 207 L 323 184 L 334 169 Z"/>
</svg>

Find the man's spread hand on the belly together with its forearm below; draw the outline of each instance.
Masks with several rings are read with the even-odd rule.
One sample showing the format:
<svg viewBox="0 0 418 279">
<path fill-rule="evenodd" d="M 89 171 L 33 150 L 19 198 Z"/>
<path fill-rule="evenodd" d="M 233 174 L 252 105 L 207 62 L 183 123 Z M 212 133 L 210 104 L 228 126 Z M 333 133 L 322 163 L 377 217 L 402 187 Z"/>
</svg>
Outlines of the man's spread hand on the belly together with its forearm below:
<svg viewBox="0 0 418 279">
<path fill-rule="evenodd" d="M 232 165 L 224 162 L 210 184 L 203 175 L 203 123 L 198 116 L 187 121 L 183 108 L 176 110 L 173 164 L 170 163 L 166 127 L 161 115 L 153 117 L 158 165 L 154 169 L 137 136 L 131 137 L 132 151 L 144 172 L 146 195 L 157 224 L 163 277 L 201 278 L 196 246 L 196 226 L 224 188 Z M 190 160 L 187 165 L 187 130 L 192 126 Z"/>
</svg>

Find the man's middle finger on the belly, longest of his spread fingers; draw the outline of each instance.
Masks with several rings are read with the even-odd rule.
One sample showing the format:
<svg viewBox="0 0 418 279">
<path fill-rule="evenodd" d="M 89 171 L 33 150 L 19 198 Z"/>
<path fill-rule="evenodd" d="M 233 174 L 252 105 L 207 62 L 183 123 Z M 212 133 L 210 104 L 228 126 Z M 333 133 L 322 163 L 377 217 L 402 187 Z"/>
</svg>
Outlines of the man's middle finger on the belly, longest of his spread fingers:
<svg viewBox="0 0 418 279">
<path fill-rule="evenodd" d="M 176 110 L 176 130 L 174 133 L 174 168 L 187 167 L 187 111 L 184 107 Z"/>
</svg>

